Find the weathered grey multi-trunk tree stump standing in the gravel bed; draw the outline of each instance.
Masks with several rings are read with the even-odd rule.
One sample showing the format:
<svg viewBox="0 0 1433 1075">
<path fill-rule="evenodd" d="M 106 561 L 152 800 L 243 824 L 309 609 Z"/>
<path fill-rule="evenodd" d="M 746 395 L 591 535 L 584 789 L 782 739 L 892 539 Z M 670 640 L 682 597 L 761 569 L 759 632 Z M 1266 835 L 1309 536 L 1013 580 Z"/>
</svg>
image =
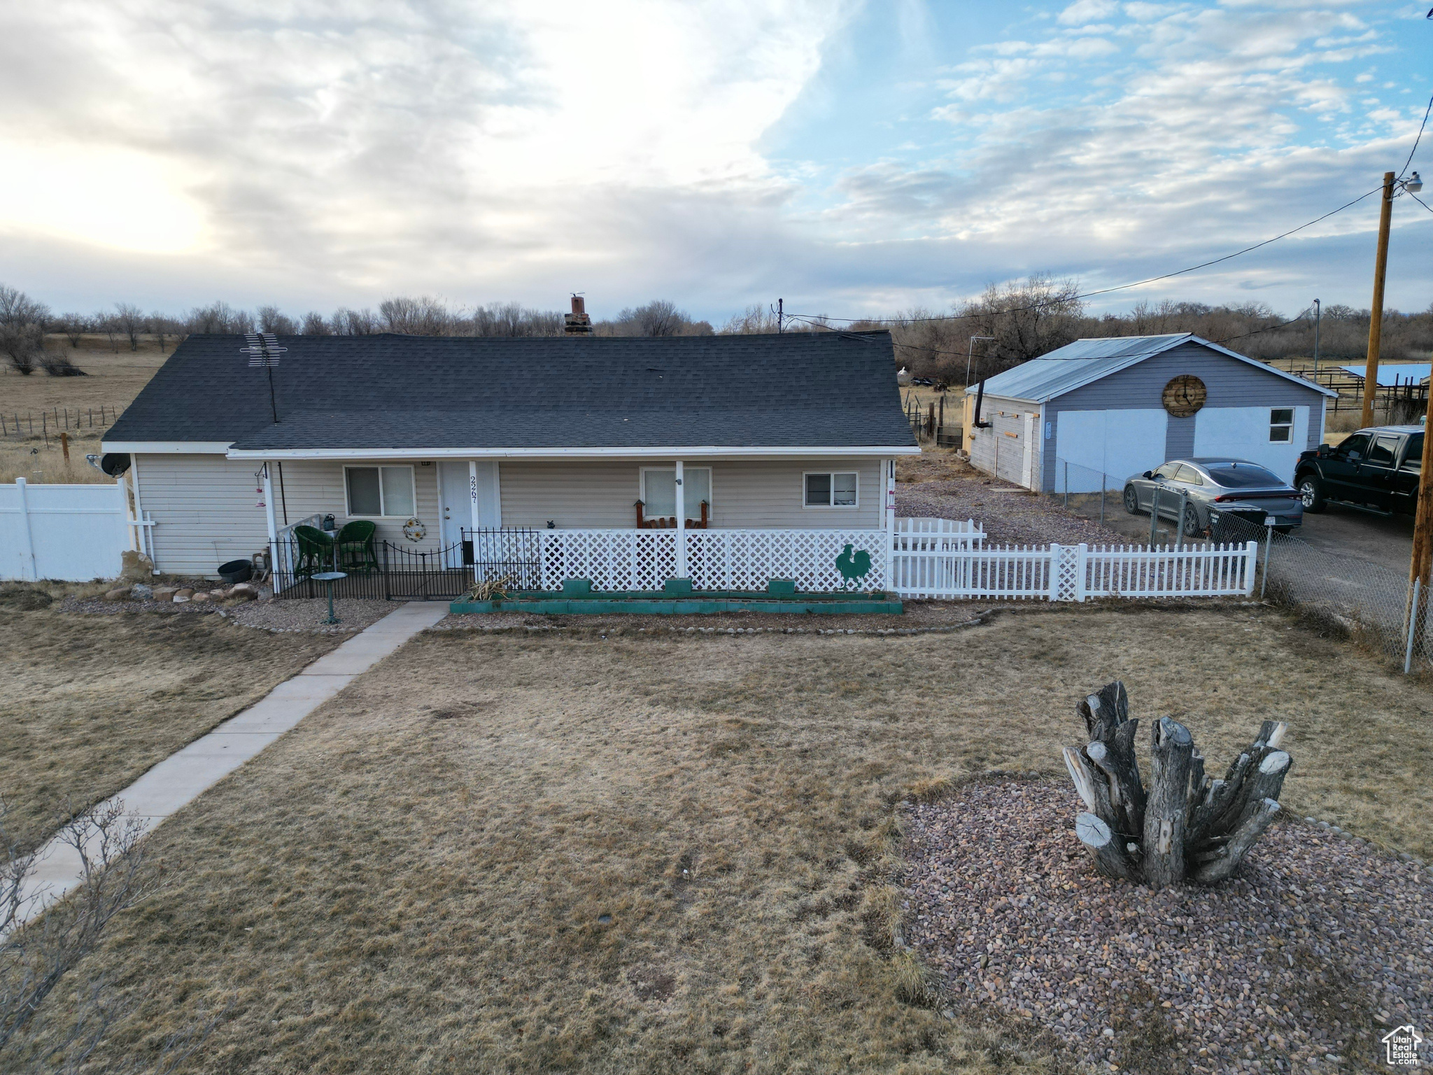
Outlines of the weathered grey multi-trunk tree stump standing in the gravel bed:
<svg viewBox="0 0 1433 1075">
<path fill-rule="evenodd" d="M 1135 760 L 1138 720 L 1112 682 L 1079 704 L 1089 742 L 1065 748 L 1085 813 L 1075 833 L 1111 877 L 1152 887 L 1214 884 L 1234 873 L 1280 811 L 1293 760 L 1280 750 L 1287 725 L 1264 721 L 1254 742 L 1211 780 L 1189 730 L 1161 717 L 1151 735 L 1149 790 Z"/>
</svg>

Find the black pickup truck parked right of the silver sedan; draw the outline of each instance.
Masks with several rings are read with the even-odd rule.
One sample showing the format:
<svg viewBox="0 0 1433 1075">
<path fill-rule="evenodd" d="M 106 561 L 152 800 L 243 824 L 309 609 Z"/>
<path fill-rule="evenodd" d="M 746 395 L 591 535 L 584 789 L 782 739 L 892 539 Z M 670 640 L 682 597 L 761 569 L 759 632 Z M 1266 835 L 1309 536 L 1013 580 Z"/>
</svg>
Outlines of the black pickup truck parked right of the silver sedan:
<svg viewBox="0 0 1433 1075">
<path fill-rule="evenodd" d="M 1294 487 L 1305 512 L 1348 505 L 1383 515 L 1413 515 L 1423 469 L 1422 426 L 1377 426 L 1350 433 L 1337 447 L 1304 452 Z"/>
</svg>

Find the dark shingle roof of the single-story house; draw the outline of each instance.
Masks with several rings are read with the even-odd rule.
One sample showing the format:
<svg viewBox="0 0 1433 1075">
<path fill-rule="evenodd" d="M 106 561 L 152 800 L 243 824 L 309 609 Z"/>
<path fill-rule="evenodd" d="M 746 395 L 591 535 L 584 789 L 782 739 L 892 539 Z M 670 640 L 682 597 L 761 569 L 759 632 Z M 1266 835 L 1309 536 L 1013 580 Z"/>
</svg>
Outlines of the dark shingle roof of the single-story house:
<svg viewBox="0 0 1433 1075">
<path fill-rule="evenodd" d="M 668 338 L 191 335 L 105 440 L 235 449 L 911 446 L 888 333 Z"/>
</svg>

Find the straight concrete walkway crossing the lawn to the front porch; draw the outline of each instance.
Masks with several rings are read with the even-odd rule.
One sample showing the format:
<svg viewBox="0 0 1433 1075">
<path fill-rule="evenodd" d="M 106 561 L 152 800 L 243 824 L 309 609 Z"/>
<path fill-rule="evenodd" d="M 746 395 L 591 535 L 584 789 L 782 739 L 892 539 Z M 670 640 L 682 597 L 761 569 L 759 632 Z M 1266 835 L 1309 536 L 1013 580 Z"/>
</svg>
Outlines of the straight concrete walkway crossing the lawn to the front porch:
<svg viewBox="0 0 1433 1075">
<path fill-rule="evenodd" d="M 146 830 L 198 798 L 224 777 L 327 702 L 358 675 L 447 615 L 447 602 L 413 601 L 360 631 L 337 649 L 314 661 L 244 712 L 231 717 L 183 750 L 171 754 L 113 801 L 123 804 Z M 26 919 L 80 882 L 75 847 L 52 840 L 26 883 Z"/>
</svg>

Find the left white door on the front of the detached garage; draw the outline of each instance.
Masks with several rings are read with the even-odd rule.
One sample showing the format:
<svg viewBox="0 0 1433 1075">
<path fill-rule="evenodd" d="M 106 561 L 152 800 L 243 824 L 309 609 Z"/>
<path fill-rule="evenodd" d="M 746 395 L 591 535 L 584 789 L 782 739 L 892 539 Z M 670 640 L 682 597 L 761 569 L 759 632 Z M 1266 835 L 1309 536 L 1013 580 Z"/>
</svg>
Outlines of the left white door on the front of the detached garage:
<svg viewBox="0 0 1433 1075">
<path fill-rule="evenodd" d="M 1098 493 L 1101 474 L 1106 489 L 1122 489 L 1131 474 L 1159 466 L 1165 462 L 1168 421 L 1162 407 L 1060 411 L 1055 431 L 1055 492 Z"/>
</svg>

